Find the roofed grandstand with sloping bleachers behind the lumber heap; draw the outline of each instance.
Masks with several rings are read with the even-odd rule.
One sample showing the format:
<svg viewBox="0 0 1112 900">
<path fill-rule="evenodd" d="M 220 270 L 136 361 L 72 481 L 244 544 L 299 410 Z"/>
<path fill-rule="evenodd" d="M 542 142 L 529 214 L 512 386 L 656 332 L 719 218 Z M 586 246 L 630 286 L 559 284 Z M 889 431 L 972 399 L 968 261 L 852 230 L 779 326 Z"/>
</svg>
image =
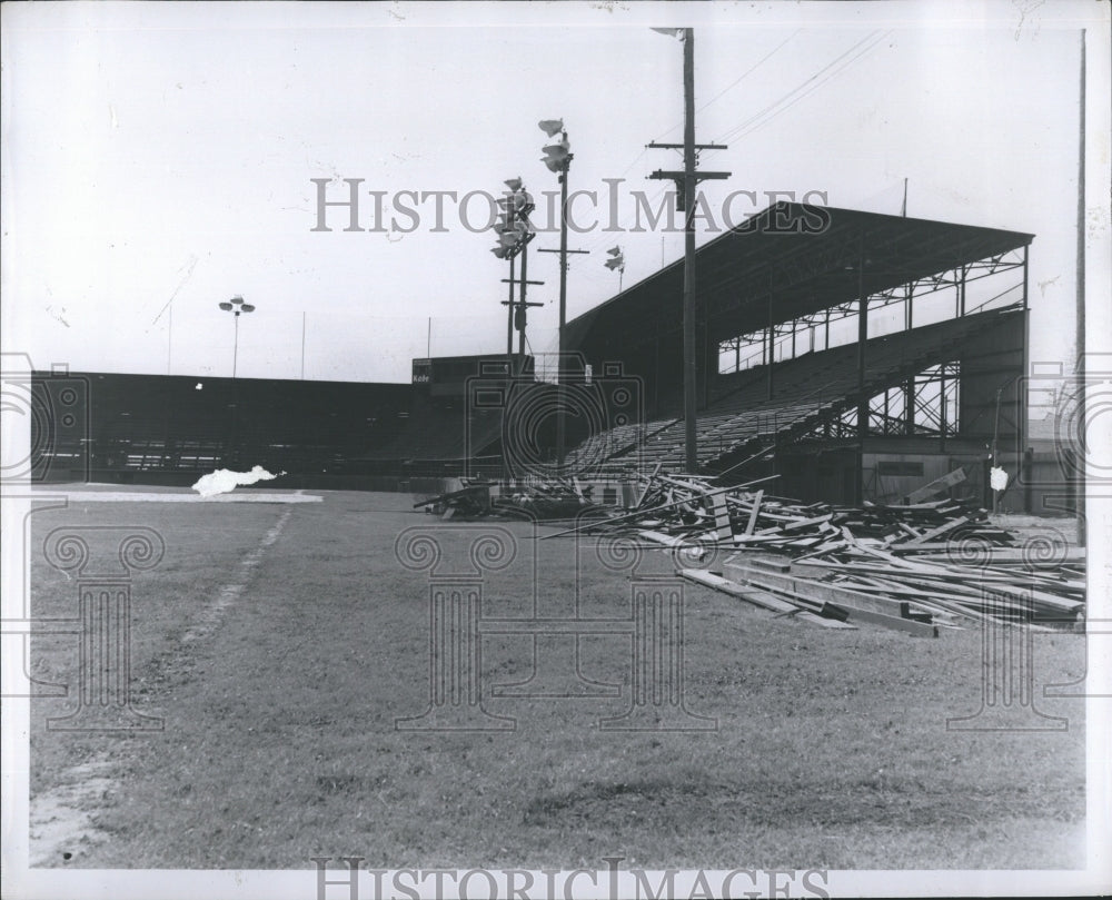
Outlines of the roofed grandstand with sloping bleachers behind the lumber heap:
<svg viewBox="0 0 1112 900">
<path fill-rule="evenodd" d="M 701 473 L 778 474 L 791 496 L 860 503 L 956 467 L 956 491 L 983 494 L 993 444 L 1019 472 L 1032 239 L 777 204 L 702 247 Z M 595 435 L 573 463 L 602 457 L 613 477 L 683 467 L 682 278 L 673 264 L 569 324 L 586 364 L 620 358 L 648 400 L 639 428 Z"/>
</svg>

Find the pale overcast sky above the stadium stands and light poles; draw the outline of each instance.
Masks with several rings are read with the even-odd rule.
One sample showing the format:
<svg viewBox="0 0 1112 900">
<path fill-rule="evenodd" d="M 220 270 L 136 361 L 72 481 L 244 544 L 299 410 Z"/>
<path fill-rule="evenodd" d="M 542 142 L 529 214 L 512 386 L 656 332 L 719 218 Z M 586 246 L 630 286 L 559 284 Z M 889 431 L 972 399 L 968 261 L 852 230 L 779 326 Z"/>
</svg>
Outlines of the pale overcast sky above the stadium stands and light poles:
<svg viewBox="0 0 1112 900">
<path fill-rule="evenodd" d="M 1035 6 L 1035 4 L 1026 4 Z M 1033 233 L 1032 358 L 1073 346 L 1080 29 L 1089 32 L 1091 219 L 1106 241 L 1105 4 L 4 4 L 3 349 L 47 367 L 408 380 L 409 360 L 505 347 L 506 266 L 444 199 L 399 191 L 556 190 L 537 121 L 563 117 L 573 189 L 599 228 L 676 168 L 682 44 L 696 27 L 697 138 L 709 208 L 768 191 Z M 360 225 L 317 186 L 364 179 Z M 369 191 L 383 191 L 375 220 Z M 544 206 L 542 204 L 542 206 Z M 590 202 L 577 207 L 589 225 Z M 471 225 L 485 202 L 468 207 Z M 722 222 L 718 222 L 719 225 Z M 373 230 L 376 225 L 385 230 Z M 644 222 L 643 222 L 644 227 Z M 573 235 L 569 317 L 682 254 L 659 229 Z M 704 231 L 708 229 L 704 225 Z M 408 233 L 407 233 L 408 231 Z M 713 237 L 701 235 L 701 243 Z M 533 245 L 555 248 L 555 235 Z M 1105 245 L 1100 245 L 1101 247 Z M 557 266 L 530 254 L 534 350 L 555 348 Z M 1091 288 L 1092 290 L 1092 288 Z M 172 316 L 171 316 L 172 310 Z M 304 316 L 302 316 L 304 314 Z M 172 317 L 172 330 L 171 330 Z"/>
</svg>

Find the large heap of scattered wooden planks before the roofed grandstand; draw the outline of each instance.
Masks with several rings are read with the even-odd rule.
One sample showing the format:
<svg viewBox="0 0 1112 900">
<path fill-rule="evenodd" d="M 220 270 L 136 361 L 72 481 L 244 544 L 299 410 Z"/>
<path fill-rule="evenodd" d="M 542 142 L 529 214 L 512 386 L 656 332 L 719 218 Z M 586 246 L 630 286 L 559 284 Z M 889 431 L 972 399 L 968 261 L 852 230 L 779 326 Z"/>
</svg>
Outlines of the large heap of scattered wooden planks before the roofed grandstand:
<svg viewBox="0 0 1112 900">
<path fill-rule="evenodd" d="M 790 582 L 738 567 L 745 599 L 771 592 L 778 604 L 820 617 L 852 609 L 857 617 L 891 615 L 901 626 L 974 619 L 1050 627 L 1083 616 L 1084 552 L 1039 538 L 1020 545 L 975 501 L 804 504 L 758 486 L 773 478 L 724 488 L 713 478 L 657 471 L 643 476 L 633 510 L 575 531 L 687 548 L 688 558 L 711 547 L 787 556 L 784 571 L 795 573 Z M 709 584 L 692 572 L 681 574 L 716 590 L 738 589 L 738 582 Z"/>
</svg>

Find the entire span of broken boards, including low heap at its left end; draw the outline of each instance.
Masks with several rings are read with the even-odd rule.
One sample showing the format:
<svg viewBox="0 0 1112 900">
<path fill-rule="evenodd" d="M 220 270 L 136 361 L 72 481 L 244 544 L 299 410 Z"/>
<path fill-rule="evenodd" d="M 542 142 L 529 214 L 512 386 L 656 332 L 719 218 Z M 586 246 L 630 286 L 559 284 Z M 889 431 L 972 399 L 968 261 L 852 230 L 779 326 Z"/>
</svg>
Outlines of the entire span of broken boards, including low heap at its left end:
<svg viewBox="0 0 1112 900">
<path fill-rule="evenodd" d="M 638 476 L 638 491 L 623 492 L 636 497 L 625 512 L 594 503 L 574 478 L 461 481 L 414 507 L 444 518 L 575 518 L 544 538 L 579 533 L 668 547 L 683 577 L 824 627 L 867 622 L 936 636 L 969 620 L 1061 629 L 1084 615 L 1084 551 L 1053 533 L 1021 543 L 973 500 L 923 498 L 953 479 L 909 497 L 920 502 L 835 506 L 766 493 L 776 477 L 717 487 L 657 466 Z M 585 513 L 598 517 L 583 522 Z M 716 551 L 749 552 L 709 572 Z"/>
</svg>

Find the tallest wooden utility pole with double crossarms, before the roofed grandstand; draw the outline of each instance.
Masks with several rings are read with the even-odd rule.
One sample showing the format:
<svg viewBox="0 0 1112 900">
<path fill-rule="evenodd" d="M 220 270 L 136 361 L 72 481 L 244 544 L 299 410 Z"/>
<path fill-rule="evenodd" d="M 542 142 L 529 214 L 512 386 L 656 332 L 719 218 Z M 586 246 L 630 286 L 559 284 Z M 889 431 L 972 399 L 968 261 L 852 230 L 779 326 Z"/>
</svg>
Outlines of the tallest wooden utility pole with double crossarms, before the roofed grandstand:
<svg viewBox="0 0 1112 900">
<path fill-rule="evenodd" d="M 698 150 L 725 150 L 717 144 L 695 144 L 695 29 L 683 29 L 684 42 L 684 142 L 649 144 L 653 149 L 681 149 L 684 151 L 683 171 L 653 172 L 649 178 L 671 179 L 676 182 L 677 207 L 684 216 L 684 456 L 686 471 L 698 472 L 698 449 L 695 427 L 698 397 L 698 369 L 695 355 L 695 187 L 703 179 L 724 179 L 729 172 L 696 172 Z M 706 360 L 704 360 L 704 366 Z"/>
</svg>

